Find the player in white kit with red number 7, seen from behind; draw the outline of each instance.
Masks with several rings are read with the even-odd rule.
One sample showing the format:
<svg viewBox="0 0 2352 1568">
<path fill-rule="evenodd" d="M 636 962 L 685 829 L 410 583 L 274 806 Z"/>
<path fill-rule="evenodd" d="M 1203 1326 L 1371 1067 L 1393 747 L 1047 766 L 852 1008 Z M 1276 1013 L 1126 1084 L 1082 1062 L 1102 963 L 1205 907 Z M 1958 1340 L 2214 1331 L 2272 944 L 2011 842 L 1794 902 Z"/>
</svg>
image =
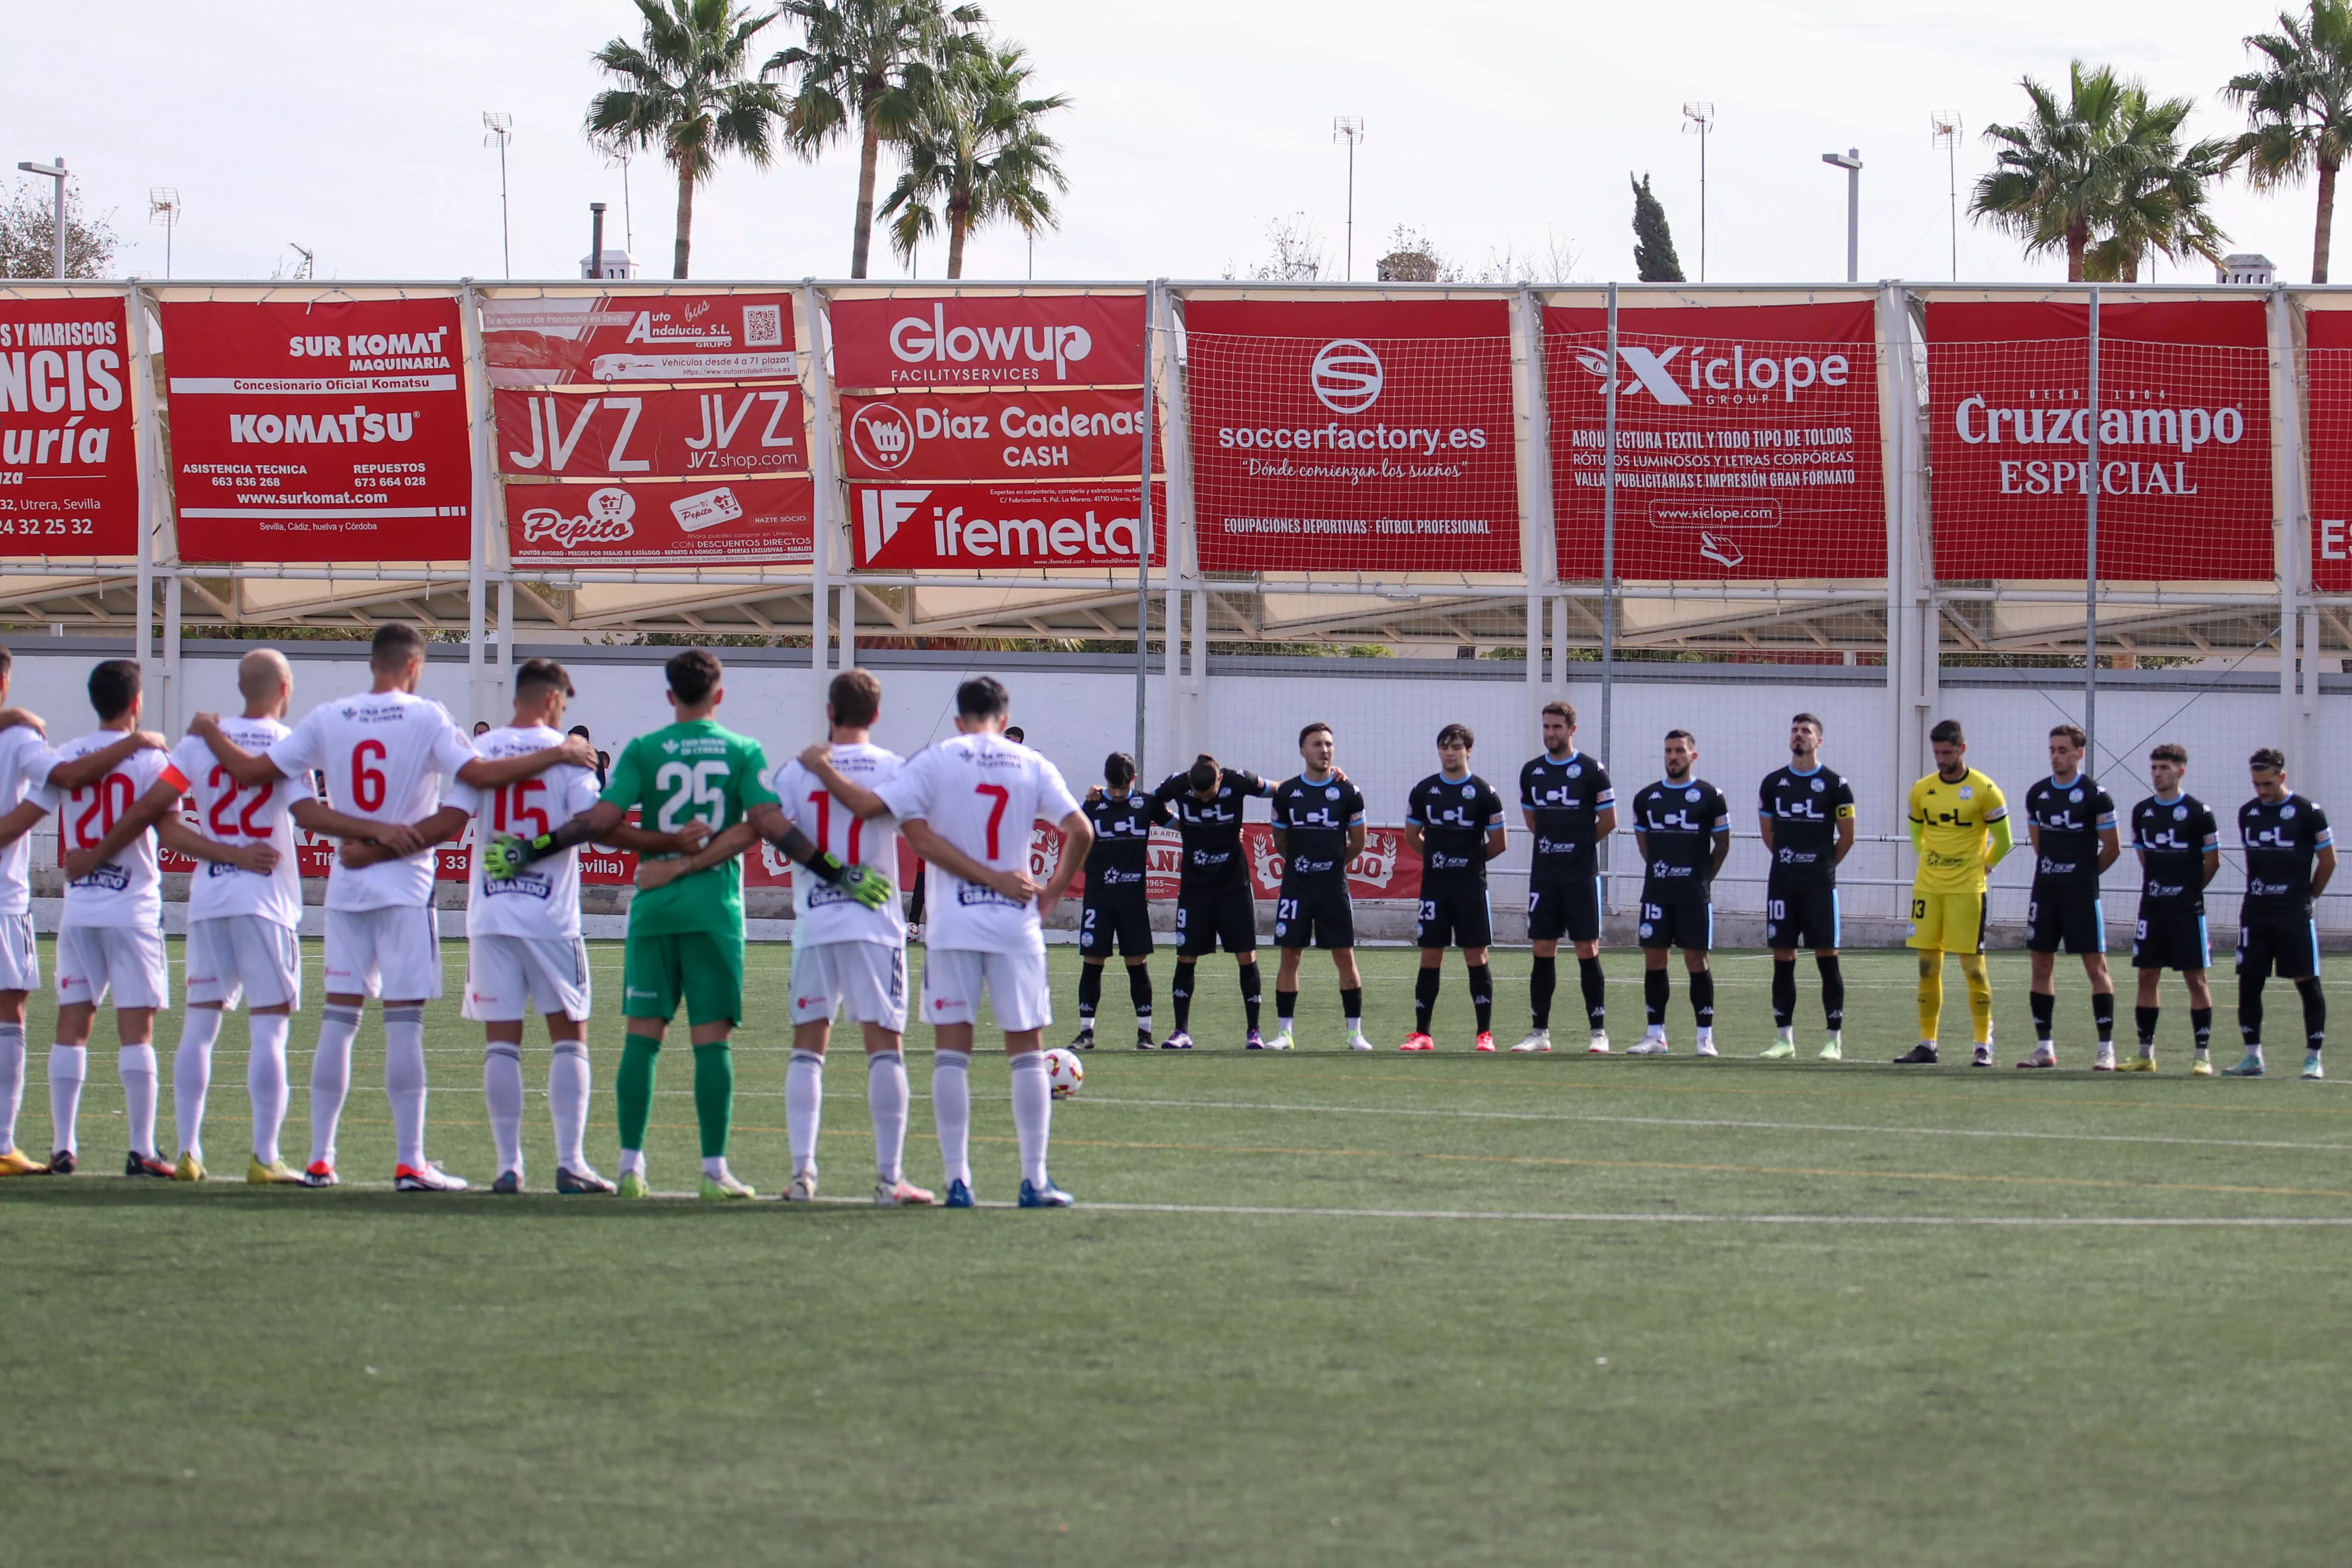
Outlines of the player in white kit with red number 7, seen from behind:
<svg viewBox="0 0 2352 1568">
<path fill-rule="evenodd" d="M 971 1208 L 971 1025 L 981 987 L 1004 1025 L 1014 1131 L 1021 1138 L 1021 1206 L 1065 1208 L 1073 1199 L 1047 1175 L 1054 1088 L 1047 1084 L 1044 1027 L 1054 999 L 1044 973 L 1049 914 L 1087 863 L 1094 827 L 1061 769 L 1004 738 L 1004 686 L 981 675 L 955 691 L 955 738 L 908 757 L 877 806 L 898 818 L 929 865 L 922 1016 L 934 1027 L 931 1114 L 948 1166 L 948 1208 Z M 1030 825 L 1061 827 L 1061 863 L 1040 889 L 1030 875 Z"/>
</svg>

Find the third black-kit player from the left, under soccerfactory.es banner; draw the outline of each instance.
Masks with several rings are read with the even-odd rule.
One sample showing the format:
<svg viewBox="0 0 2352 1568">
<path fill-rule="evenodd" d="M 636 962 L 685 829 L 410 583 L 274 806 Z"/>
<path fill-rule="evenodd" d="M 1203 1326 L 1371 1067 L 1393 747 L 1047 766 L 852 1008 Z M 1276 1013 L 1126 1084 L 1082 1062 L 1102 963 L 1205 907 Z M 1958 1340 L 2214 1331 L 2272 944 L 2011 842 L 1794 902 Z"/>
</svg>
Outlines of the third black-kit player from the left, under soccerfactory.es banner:
<svg viewBox="0 0 2352 1568">
<path fill-rule="evenodd" d="M 1348 1018 L 1348 1048 L 1371 1051 L 1364 1039 L 1364 976 L 1355 971 L 1355 903 L 1348 898 L 1348 863 L 1364 853 L 1364 795 L 1331 766 L 1329 724 L 1298 731 L 1305 773 L 1275 785 L 1275 853 L 1282 856 L 1282 893 L 1275 903 L 1275 1037 L 1268 1051 L 1291 1048 L 1298 1011 L 1298 954 L 1308 943 L 1331 952 L 1338 966 L 1338 1001 Z"/>
</svg>

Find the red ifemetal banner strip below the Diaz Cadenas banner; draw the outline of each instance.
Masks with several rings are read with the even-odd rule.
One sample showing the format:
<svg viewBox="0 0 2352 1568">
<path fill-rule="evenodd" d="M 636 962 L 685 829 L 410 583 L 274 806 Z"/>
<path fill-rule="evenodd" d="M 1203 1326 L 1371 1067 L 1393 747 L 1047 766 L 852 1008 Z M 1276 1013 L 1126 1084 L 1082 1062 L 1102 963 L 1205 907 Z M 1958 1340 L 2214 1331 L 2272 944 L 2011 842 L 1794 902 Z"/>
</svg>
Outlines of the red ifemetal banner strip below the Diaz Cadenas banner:
<svg viewBox="0 0 2352 1568">
<path fill-rule="evenodd" d="M 1134 567 L 1141 487 L 851 484 L 858 567 Z M 1152 562 L 1167 559 L 1167 484 L 1152 482 Z"/>
</svg>

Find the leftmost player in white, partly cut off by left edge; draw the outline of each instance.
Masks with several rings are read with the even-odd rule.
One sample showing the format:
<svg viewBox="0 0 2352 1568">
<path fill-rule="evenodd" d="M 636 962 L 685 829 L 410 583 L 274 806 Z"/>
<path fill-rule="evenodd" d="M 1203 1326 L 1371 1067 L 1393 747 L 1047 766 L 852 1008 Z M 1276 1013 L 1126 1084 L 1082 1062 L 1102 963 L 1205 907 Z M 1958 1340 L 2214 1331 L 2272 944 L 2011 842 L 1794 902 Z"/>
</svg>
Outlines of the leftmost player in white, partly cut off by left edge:
<svg viewBox="0 0 2352 1568">
<path fill-rule="evenodd" d="M 7 701 L 12 656 L 0 646 L 0 701 Z M 78 790 L 108 769 L 125 762 L 136 750 L 162 752 L 162 736 L 132 731 L 111 745 L 61 759 L 42 738 L 40 719 L 9 708 L 0 712 L 0 1175 L 47 1175 L 49 1164 L 33 1159 L 16 1147 L 16 1112 L 24 1107 L 24 1001 L 40 990 L 40 952 L 33 945 L 33 884 L 26 877 L 31 865 L 33 827 L 49 816 L 49 804 L 40 795 L 42 785 Z M 71 1079 L 80 1093 L 82 1063 L 87 1048 L 56 1046 L 71 1051 Z M 56 1086 L 52 1063 L 52 1088 Z M 52 1112 L 56 1100 L 49 1100 Z M 73 1161 L 66 1161 L 73 1168 Z"/>
</svg>

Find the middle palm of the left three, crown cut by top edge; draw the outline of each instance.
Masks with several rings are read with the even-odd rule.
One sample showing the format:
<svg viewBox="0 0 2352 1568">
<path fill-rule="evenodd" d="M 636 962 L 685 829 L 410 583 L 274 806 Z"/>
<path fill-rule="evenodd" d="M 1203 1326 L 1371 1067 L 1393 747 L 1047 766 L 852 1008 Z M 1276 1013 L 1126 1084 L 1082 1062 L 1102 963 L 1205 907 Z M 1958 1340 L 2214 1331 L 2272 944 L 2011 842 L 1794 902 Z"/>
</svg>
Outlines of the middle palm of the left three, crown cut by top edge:
<svg viewBox="0 0 2352 1568">
<path fill-rule="evenodd" d="M 814 155 L 851 127 L 858 134 L 849 275 L 866 277 L 882 143 L 915 125 L 943 71 L 985 47 L 971 33 L 985 16 L 978 5 L 948 9 L 946 0 L 783 0 L 779 14 L 800 24 L 802 42 L 769 59 L 762 75 L 793 78 L 793 146 Z"/>
</svg>

